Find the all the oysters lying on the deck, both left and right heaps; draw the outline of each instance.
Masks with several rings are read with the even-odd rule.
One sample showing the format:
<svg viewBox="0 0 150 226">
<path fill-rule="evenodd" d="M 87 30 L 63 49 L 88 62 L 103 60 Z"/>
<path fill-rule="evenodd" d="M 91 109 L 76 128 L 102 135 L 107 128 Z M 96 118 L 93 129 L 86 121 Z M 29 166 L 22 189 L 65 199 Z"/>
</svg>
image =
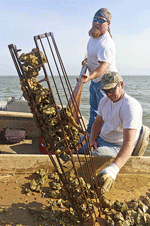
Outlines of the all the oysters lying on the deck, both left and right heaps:
<svg viewBox="0 0 150 226">
<path fill-rule="evenodd" d="M 48 207 L 51 213 L 59 214 L 59 216 L 65 215 L 64 221 L 68 223 L 73 222 L 72 225 L 80 224 L 80 221 L 77 217 L 77 212 L 74 210 L 72 203 L 69 201 L 71 197 L 74 197 L 77 200 L 77 205 L 80 206 L 80 212 L 88 214 L 87 205 L 82 204 L 84 202 L 84 197 L 81 195 L 80 188 L 74 192 L 74 189 L 79 185 L 79 181 L 75 179 L 73 171 L 67 172 L 66 176 L 70 181 L 70 184 L 66 184 L 67 190 L 64 189 L 60 178 L 57 172 L 48 173 L 44 170 L 40 170 L 37 173 L 37 179 L 29 181 L 29 188 L 25 189 L 27 195 L 32 192 L 40 192 L 42 197 L 50 198 Z M 49 189 L 44 191 L 42 185 L 49 179 Z M 83 185 L 84 191 L 86 193 L 87 188 L 90 189 L 90 196 L 88 198 L 88 204 L 91 210 L 94 208 L 96 210 L 97 204 L 95 199 L 97 194 L 92 189 L 91 184 L 85 183 L 84 179 L 80 177 L 81 184 Z M 68 191 L 68 192 L 67 192 Z M 89 193 L 87 193 L 89 194 Z M 80 196 L 81 195 L 81 196 Z M 78 198 L 80 196 L 80 198 Z M 106 218 L 107 226 L 150 226 L 150 197 L 143 196 L 141 199 L 132 199 L 129 202 L 119 202 L 116 200 L 114 203 L 111 203 L 106 196 L 101 196 L 102 204 L 102 214 Z M 56 211 L 57 209 L 57 211 Z M 59 209 L 59 210 L 58 210 Z M 62 209 L 62 211 L 60 210 Z M 65 213 L 64 213 L 65 209 Z M 71 215 L 70 215 L 71 214 Z M 71 220 L 70 220 L 71 217 Z M 83 214 L 83 221 L 85 216 Z M 94 218 L 94 216 L 93 216 Z M 63 220 L 62 220 L 63 221 Z M 53 222 L 54 223 L 54 222 Z M 59 225 L 59 224 L 58 224 Z M 61 224 L 60 224 L 61 225 Z M 69 224 L 62 224 L 69 225 Z M 71 225 L 71 224 L 70 224 Z"/>
</svg>

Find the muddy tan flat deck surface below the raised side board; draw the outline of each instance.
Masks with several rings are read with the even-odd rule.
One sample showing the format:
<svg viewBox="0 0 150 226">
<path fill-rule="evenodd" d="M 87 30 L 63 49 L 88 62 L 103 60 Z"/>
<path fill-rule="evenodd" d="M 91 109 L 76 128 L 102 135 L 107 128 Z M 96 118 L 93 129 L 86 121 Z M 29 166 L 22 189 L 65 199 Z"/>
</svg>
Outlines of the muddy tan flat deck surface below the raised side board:
<svg viewBox="0 0 150 226">
<path fill-rule="evenodd" d="M 28 186 L 32 174 L 3 174 L 0 176 L 0 208 L 5 207 L 7 211 L 0 214 L 0 225 L 17 224 L 23 226 L 34 226 L 34 217 L 29 213 L 29 207 L 46 210 L 50 198 L 42 197 L 40 193 L 32 192 L 30 196 L 24 194 L 24 188 Z M 44 187 L 48 187 L 44 184 Z M 119 174 L 114 187 L 110 190 L 107 198 L 113 203 L 130 201 L 133 198 L 150 195 L 150 174 Z M 62 209 L 61 209 L 62 210 Z M 39 221 L 40 222 L 40 221 Z M 41 225 L 49 225 L 41 224 Z M 105 226 L 104 216 L 95 226 Z"/>
</svg>

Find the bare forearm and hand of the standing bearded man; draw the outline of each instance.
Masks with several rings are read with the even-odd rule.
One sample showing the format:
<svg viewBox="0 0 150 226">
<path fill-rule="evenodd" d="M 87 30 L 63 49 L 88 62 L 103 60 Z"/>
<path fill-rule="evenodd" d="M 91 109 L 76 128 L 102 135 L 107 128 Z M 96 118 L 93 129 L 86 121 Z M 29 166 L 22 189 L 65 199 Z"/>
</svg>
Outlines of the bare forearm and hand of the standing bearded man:
<svg viewBox="0 0 150 226">
<path fill-rule="evenodd" d="M 98 66 L 90 75 L 83 74 L 83 83 L 86 83 L 94 78 L 101 77 L 104 75 L 108 70 L 110 64 L 107 62 L 99 62 L 100 66 Z"/>
</svg>

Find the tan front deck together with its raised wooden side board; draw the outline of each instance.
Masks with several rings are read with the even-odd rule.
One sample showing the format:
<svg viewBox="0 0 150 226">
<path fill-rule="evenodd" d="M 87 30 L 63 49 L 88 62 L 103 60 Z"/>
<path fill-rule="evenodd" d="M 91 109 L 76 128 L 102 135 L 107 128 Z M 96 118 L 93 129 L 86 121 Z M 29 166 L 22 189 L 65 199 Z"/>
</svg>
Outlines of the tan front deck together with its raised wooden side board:
<svg viewBox="0 0 150 226">
<path fill-rule="evenodd" d="M 81 160 L 86 174 L 84 156 L 81 156 Z M 74 156 L 74 161 L 80 173 L 80 165 L 76 156 Z M 113 158 L 109 157 L 94 157 L 96 173 L 99 173 L 112 161 Z M 69 165 L 66 165 L 66 167 L 69 167 Z M 27 196 L 24 192 L 24 189 L 28 187 L 29 180 L 33 179 L 35 172 L 39 169 L 53 171 L 53 165 L 45 154 L 0 155 L 0 209 L 7 209 L 0 214 L 0 225 L 16 225 L 19 223 L 23 226 L 34 226 L 35 217 L 30 213 L 29 208 L 35 208 L 37 212 L 41 208 L 44 211 L 47 210 L 51 201 L 49 197 L 43 197 L 41 193 L 36 192 L 31 192 Z M 86 177 L 88 178 L 87 174 Z M 48 183 L 44 184 L 43 189 L 48 187 Z M 131 157 L 117 175 L 115 184 L 107 194 L 107 198 L 112 203 L 116 200 L 124 202 L 133 198 L 139 199 L 142 196 L 150 195 L 149 188 L 150 157 Z M 49 222 L 43 225 L 49 225 Z M 106 221 L 102 215 L 95 226 L 105 225 Z"/>
</svg>

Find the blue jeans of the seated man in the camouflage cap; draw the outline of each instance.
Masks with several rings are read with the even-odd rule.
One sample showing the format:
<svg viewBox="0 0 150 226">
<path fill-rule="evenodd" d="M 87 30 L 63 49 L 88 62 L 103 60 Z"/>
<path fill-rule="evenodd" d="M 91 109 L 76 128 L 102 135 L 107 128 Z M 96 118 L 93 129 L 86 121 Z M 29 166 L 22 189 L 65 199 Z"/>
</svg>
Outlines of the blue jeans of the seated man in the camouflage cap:
<svg viewBox="0 0 150 226">
<path fill-rule="evenodd" d="M 81 139 L 83 139 L 83 138 L 84 138 L 84 136 L 81 137 Z M 90 135 L 89 135 L 89 138 L 90 138 Z M 105 141 L 102 137 L 98 137 L 96 142 L 97 142 L 97 149 L 95 149 L 92 152 L 92 155 L 94 155 L 94 156 L 115 157 L 115 156 L 117 156 L 117 154 L 119 153 L 120 148 L 121 148 L 121 146 L 119 146 L 119 145 Z M 85 149 L 85 152 L 88 154 L 87 143 L 85 143 L 84 149 Z M 78 150 L 79 154 L 84 154 L 85 152 L 84 152 L 83 148 L 80 148 Z"/>
</svg>

